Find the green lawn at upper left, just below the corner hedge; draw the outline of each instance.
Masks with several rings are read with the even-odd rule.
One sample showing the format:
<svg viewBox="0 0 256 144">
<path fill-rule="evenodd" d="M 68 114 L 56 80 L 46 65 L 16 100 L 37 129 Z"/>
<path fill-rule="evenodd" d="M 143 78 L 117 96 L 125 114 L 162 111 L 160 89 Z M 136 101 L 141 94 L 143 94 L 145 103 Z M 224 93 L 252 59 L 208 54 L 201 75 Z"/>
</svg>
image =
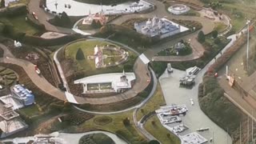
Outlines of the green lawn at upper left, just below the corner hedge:
<svg viewBox="0 0 256 144">
<path fill-rule="evenodd" d="M 37 28 L 26 22 L 26 15 L 19 15 L 12 18 L 0 18 L 0 22 L 10 23 L 18 31 L 24 32 L 28 35 L 33 35 L 39 32 Z"/>
</svg>

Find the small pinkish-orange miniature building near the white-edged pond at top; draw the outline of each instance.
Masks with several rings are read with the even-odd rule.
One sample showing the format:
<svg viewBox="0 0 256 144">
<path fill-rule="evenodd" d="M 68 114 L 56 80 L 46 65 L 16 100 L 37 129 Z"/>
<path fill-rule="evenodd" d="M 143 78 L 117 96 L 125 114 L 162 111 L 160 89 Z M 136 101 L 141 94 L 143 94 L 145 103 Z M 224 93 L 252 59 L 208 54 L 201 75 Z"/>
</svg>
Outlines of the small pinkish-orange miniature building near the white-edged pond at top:
<svg viewBox="0 0 256 144">
<path fill-rule="evenodd" d="M 107 22 L 107 17 L 105 14 L 101 13 L 96 13 L 96 14 L 90 14 L 83 19 L 82 25 L 92 25 L 93 22 L 99 23 L 101 26 L 106 25 Z"/>
</svg>

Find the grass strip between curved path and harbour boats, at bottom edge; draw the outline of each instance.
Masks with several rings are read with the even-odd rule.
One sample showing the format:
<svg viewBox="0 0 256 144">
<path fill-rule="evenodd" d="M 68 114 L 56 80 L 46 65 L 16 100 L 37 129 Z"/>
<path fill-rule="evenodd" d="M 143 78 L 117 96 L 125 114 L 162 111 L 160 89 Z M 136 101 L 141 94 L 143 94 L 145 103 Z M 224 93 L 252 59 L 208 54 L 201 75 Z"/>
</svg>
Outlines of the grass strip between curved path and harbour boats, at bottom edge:
<svg viewBox="0 0 256 144">
<path fill-rule="evenodd" d="M 154 125 L 152 124 L 154 122 Z M 181 143 L 178 137 L 170 133 L 165 127 L 162 126 L 158 117 L 154 115 L 149 118 L 145 123 L 145 129 L 152 134 L 155 138 L 158 138 L 162 144 L 178 144 Z"/>
</svg>

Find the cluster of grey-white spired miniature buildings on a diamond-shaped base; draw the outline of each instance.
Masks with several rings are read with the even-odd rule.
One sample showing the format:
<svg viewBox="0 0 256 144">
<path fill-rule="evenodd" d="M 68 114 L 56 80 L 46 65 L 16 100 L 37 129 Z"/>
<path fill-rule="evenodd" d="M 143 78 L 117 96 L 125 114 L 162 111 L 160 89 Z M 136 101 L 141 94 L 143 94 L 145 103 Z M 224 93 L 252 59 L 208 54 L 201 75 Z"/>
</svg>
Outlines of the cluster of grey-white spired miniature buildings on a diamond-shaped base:
<svg viewBox="0 0 256 144">
<path fill-rule="evenodd" d="M 189 30 L 188 28 L 178 25 L 177 23 L 171 22 L 166 18 L 154 17 L 151 20 L 148 19 L 146 22 L 135 22 L 134 29 L 141 34 L 149 36 L 150 38 L 160 37 L 166 38 L 171 35 L 178 34 L 180 32 Z"/>
</svg>

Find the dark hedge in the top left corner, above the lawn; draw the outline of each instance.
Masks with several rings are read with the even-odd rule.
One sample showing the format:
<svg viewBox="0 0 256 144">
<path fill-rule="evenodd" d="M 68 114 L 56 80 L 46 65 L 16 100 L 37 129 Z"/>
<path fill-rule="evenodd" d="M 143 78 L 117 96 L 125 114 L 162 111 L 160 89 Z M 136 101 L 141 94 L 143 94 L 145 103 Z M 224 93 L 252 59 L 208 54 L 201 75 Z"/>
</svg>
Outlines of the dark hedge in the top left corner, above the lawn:
<svg viewBox="0 0 256 144">
<path fill-rule="evenodd" d="M 17 15 L 26 14 L 26 4 L 17 4 L 0 9 L 0 17 L 14 17 Z"/>
</svg>

